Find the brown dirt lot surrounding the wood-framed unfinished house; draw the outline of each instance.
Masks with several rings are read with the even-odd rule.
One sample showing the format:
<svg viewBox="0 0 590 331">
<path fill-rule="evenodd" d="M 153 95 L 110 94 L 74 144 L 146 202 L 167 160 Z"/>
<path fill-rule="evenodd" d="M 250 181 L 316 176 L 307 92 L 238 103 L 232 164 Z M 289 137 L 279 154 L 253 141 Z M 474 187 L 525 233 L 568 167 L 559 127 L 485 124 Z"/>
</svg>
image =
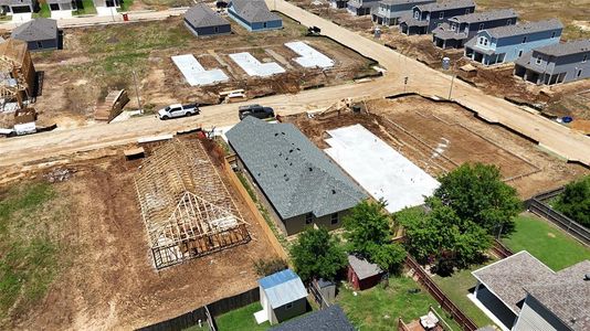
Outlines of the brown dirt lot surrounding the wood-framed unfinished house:
<svg viewBox="0 0 590 331">
<path fill-rule="evenodd" d="M 11 310 L 8 321 L 1 321 L 0 313 L 0 325 L 130 330 L 255 286 L 253 261 L 275 253 L 256 218 L 231 188 L 253 239 L 157 273 L 133 184 L 140 161 L 124 161 L 120 150 L 116 153 L 60 166 L 73 173 L 52 184 L 59 201 L 70 205 L 69 213 L 60 217 L 62 233 L 56 235 L 60 255 L 70 256 L 70 261 L 38 302 Z M 44 180 L 43 173 L 54 169 L 44 170 L 38 178 Z M 230 185 L 228 179 L 224 181 Z M 0 188 L 0 193 L 4 189 Z M 51 215 L 52 209 L 46 206 L 43 215 Z"/>
</svg>

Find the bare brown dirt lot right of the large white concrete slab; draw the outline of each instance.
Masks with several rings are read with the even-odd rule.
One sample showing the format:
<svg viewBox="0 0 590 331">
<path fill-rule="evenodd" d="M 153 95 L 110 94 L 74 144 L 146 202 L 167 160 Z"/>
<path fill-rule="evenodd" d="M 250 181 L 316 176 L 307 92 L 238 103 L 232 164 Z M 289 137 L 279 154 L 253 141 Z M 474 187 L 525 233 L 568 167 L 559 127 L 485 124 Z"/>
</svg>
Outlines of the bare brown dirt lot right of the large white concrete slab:
<svg viewBox="0 0 590 331">
<path fill-rule="evenodd" d="M 365 105 L 369 115 L 343 111 L 313 119 L 299 115 L 286 120 L 295 122 L 322 148 L 327 147 L 326 130 L 362 124 L 432 175 L 468 161 L 496 164 L 504 180 L 523 197 L 590 172 L 556 159 L 498 126 L 485 124 L 454 104 L 411 96 L 368 100 Z"/>
</svg>

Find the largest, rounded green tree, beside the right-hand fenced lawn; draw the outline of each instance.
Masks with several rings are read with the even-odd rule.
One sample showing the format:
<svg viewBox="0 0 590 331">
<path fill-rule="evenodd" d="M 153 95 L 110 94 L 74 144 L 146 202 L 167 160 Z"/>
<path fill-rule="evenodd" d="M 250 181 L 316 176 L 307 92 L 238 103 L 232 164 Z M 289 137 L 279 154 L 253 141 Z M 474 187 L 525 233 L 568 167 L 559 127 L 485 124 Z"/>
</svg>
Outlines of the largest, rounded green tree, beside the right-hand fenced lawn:
<svg viewBox="0 0 590 331">
<path fill-rule="evenodd" d="M 521 203 L 516 190 L 502 181 L 496 166 L 464 163 L 439 181 L 434 196 L 461 220 L 470 220 L 493 235 L 514 231 Z"/>
</svg>

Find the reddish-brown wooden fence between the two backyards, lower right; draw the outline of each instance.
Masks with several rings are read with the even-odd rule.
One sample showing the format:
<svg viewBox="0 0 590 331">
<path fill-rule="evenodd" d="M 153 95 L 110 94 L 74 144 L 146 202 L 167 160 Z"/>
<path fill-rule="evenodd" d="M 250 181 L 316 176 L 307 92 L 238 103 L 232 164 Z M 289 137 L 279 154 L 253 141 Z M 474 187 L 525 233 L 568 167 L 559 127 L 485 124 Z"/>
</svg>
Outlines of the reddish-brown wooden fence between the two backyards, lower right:
<svg viewBox="0 0 590 331">
<path fill-rule="evenodd" d="M 410 255 L 405 258 L 405 265 L 414 270 L 418 282 L 422 285 L 430 295 L 441 305 L 442 309 L 449 312 L 457 324 L 465 331 L 475 331 L 477 325 L 459 307 L 446 297 L 439 286 L 430 278 L 420 264 Z"/>
</svg>

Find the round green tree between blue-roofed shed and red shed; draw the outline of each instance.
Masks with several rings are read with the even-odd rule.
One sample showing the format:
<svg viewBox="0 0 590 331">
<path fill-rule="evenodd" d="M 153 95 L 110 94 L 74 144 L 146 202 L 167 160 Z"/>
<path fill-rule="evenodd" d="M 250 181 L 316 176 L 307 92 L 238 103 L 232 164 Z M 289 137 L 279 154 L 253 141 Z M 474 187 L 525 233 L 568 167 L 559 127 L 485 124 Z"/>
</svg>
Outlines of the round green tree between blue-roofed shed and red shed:
<svg viewBox="0 0 590 331">
<path fill-rule="evenodd" d="M 291 246 L 295 271 L 304 280 L 324 278 L 334 280 L 347 264 L 347 257 L 338 237 L 324 226 L 307 227 Z"/>
</svg>

